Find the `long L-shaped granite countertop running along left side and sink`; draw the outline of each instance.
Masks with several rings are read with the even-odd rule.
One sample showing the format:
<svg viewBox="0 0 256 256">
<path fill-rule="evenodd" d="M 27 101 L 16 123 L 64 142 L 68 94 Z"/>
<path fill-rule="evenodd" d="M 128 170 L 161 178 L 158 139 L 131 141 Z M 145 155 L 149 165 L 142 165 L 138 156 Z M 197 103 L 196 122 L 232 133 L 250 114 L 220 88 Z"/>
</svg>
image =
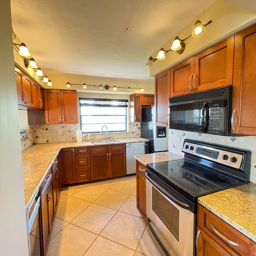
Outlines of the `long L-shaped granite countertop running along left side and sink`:
<svg viewBox="0 0 256 256">
<path fill-rule="evenodd" d="M 132 142 L 146 142 L 149 141 L 144 138 L 121 138 L 118 142 L 107 143 L 120 144 Z M 109 140 L 111 141 L 111 140 Z M 57 156 L 61 148 L 72 148 L 81 146 L 99 146 L 103 144 L 92 144 L 90 142 L 60 142 L 47 144 L 34 144 L 22 151 L 22 166 L 24 179 L 24 193 L 26 208 L 36 195 L 37 190 L 42 184 L 46 173 L 50 169 L 54 158 Z"/>
</svg>

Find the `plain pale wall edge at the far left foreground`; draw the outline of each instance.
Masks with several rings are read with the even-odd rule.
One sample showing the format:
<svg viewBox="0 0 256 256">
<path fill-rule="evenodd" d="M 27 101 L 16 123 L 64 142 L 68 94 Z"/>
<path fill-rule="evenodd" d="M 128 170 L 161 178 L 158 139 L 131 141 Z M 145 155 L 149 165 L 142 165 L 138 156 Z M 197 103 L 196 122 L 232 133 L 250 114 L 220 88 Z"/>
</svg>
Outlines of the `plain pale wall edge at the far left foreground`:
<svg viewBox="0 0 256 256">
<path fill-rule="evenodd" d="M 0 8 L 0 255 L 27 256 L 26 212 L 10 0 Z"/>
</svg>

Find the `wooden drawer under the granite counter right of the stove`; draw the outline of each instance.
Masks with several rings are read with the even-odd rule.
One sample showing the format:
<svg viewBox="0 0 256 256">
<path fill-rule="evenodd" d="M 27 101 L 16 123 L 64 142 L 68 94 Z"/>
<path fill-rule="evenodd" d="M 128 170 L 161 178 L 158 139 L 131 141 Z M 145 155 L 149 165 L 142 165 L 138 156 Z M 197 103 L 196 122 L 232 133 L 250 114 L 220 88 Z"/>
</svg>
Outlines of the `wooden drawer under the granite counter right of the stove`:
<svg viewBox="0 0 256 256">
<path fill-rule="evenodd" d="M 228 247 L 241 255 L 249 255 L 250 239 L 200 204 L 197 225 L 224 248 Z"/>
</svg>

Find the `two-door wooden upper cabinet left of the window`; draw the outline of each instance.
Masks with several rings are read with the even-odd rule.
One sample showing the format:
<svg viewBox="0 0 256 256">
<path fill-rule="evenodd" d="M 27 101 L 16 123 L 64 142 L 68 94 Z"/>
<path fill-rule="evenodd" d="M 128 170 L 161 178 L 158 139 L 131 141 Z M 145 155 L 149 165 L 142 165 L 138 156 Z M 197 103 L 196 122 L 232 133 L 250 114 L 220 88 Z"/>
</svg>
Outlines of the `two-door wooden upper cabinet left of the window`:
<svg viewBox="0 0 256 256">
<path fill-rule="evenodd" d="M 46 124 L 77 124 L 75 90 L 45 90 Z"/>
</svg>

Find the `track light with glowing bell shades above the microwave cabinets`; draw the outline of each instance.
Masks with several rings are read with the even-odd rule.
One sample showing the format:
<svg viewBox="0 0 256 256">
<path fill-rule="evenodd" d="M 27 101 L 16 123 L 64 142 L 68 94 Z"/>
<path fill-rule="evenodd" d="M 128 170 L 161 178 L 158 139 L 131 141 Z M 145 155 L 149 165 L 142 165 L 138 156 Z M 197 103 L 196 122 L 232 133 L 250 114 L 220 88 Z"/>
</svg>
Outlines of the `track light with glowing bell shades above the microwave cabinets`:
<svg viewBox="0 0 256 256">
<path fill-rule="evenodd" d="M 175 51 L 177 54 L 182 54 L 185 50 L 185 43 L 184 41 L 190 38 L 191 36 L 197 37 L 202 34 L 204 34 L 206 30 L 206 26 L 212 23 L 212 20 L 208 21 L 206 24 L 202 24 L 200 20 L 197 20 L 195 25 L 194 25 L 194 30 L 192 31 L 192 34 L 187 36 L 185 39 L 180 39 L 178 36 L 175 37 L 172 46 L 169 50 L 164 50 L 164 48 L 161 48 L 160 51 L 158 52 L 158 55 L 156 56 L 156 59 L 154 59 L 152 56 L 149 57 L 148 62 L 146 63 L 147 66 L 153 66 L 153 62 L 156 60 L 164 60 L 165 59 L 165 54 L 170 51 Z"/>
</svg>

